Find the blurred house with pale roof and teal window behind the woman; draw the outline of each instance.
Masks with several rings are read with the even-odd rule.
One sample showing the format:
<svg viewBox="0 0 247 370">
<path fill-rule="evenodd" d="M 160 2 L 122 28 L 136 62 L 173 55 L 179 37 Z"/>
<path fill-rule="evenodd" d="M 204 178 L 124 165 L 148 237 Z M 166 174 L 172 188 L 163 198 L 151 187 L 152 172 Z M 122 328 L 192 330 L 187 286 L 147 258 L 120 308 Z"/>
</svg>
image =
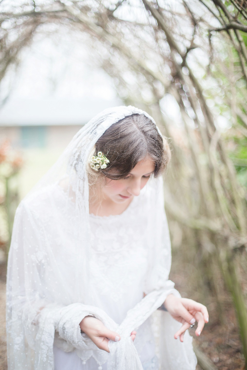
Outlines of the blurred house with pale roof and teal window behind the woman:
<svg viewBox="0 0 247 370">
<path fill-rule="evenodd" d="M 119 100 L 16 100 L 0 110 L 0 142 L 9 139 L 14 148 L 62 150 L 79 129 Z"/>
</svg>

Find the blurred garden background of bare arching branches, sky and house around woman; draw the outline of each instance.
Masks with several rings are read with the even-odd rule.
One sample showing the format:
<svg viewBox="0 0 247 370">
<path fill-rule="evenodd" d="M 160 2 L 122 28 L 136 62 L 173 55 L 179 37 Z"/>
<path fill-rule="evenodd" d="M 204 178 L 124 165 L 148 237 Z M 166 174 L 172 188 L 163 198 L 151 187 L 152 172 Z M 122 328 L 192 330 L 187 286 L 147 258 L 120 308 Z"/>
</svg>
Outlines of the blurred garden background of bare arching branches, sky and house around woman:
<svg viewBox="0 0 247 370">
<path fill-rule="evenodd" d="M 247 369 L 247 1 L 1 0 L 0 13 L 0 369 L 16 207 L 121 104 L 150 113 L 172 150 L 170 278 L 210 314 L 197 368 Z"/>
</svg>

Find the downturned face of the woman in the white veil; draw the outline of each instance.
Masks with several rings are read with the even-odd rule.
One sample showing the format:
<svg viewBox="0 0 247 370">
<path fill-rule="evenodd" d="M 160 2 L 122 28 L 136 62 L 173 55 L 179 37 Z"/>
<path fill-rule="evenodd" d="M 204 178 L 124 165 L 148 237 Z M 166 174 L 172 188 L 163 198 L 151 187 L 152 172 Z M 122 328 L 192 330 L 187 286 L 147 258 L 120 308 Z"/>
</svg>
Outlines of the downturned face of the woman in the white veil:
<svg viewBox="0 0 247 370">
<path fill-rule="evenodd" d="M 123 203 L 140 194 L 140 190 L 147 184 L 155 164 L 150 158 L 137 163 L 130 173 L 122 179 L 106 179 L 102 188 L 104 198 L 109 198 L 114 203 Z"/>
</svg>

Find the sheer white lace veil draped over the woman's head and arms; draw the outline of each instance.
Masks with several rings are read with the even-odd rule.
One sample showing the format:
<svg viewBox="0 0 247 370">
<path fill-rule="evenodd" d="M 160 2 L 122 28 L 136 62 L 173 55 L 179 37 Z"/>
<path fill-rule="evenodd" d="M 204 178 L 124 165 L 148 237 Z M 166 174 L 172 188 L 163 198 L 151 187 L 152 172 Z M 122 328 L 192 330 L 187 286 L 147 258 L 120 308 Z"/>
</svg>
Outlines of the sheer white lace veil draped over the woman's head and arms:
<svg viewBox="0 0 247 370">
<path fill-rule="evenodd" d="M 174 340 L 181 324 L 168 312 L 157 311 L 170 293 L 180 296 L 168 280 L 170 237 L 164 213 L 163 180 L 151 178 L 141 199 L 145 232 L 150 245 L 147 295 L 117 324 L 94 305 L 97 292 L 91 284 L 88 157 L 101 135 L 115 122 L 146 112 L 115 107 L 96 115 L 71 140 L 51 169 L 20 202 L 14 218 L 7 270 L 7 354 L 9 370 L 53 370 L 53 343 L 76 351 L 87 361 L 107 361 L 108 370 L 143 369 L 132 330 L 156 314 L 160 368 L 194 370 L 192 338 Z M 68 273 L 70 271 L 70 273 Z M 104 279 L 104 276 L 102 276 Z M 79 323 L 87 316 L 100 319 L 121 335 L 109 342 L 110 354 L 81 334 Z"/>
</svg>

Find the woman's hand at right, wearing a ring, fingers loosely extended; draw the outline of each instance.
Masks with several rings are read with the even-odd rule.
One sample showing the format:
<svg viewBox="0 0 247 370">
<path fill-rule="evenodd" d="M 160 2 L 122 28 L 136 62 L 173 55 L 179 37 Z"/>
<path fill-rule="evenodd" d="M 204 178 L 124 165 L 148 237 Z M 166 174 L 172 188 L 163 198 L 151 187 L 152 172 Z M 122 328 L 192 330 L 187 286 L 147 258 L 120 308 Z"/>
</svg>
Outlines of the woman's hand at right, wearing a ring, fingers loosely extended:
<svg viewBox="0 0 247 370">
<path fill-rule="evenodd" d="M 192 299 L 175 297 L 173 294 L 169 294 L 164 306 L 175 320 L 183 324 L 174 335 L 175 339 L 180 337 L 181 342 L 183 342 L 184 332 L 191 324 L 198 322 L 195 334 L 199 336 L 204 324 L 208 323 L 207 308 Z"/>
</svg>

